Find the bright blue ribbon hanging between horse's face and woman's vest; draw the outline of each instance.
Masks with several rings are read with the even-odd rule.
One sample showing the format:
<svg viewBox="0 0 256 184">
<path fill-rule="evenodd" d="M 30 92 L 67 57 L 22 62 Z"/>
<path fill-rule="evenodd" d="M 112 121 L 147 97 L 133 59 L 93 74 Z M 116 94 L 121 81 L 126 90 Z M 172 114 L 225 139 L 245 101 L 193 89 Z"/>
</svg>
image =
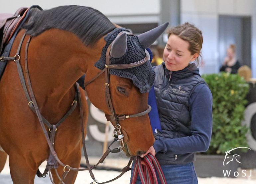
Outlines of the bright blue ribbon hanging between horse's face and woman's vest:
<svg viewBox="0 0 256 184">
<path fill-rule="evenodd" d="M 158 110 L 157 110 L 157 102 L 156 102 L 154 86 L 149 91 L 148 104 L 152 108 L 148 115 L 149 115 L 150 124 L 151 124 L 153 133 L 155 133 L 156 129 L 162 132 L 159 115 L 158 115 Z"/>
</svg>

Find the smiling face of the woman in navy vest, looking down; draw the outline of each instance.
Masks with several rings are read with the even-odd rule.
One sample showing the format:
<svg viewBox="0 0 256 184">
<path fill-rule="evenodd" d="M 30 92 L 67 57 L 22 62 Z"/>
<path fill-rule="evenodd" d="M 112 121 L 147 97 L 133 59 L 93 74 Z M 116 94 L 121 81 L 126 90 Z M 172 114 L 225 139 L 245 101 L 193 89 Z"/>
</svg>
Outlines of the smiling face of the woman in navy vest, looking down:
<svg viewBox="0 0 256 184">
<path fill-rule="evenodd" d="M 164 50 L 165 66 L 168 70 L 178 71 L 187 67 L 190 61 L 194 61 L 199 54 L 191 55 L 189 42 L 179 36 L 171 34 Z"/>
</svg>

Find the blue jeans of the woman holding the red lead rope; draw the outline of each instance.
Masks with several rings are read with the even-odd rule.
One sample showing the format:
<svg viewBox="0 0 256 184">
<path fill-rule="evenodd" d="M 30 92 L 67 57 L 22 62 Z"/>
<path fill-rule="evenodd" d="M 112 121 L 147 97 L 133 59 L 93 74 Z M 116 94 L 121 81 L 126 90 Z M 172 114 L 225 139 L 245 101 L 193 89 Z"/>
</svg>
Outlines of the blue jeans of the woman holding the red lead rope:
<svg viewBox="0 0 256 184">
<path fill-rule="evenodd" d="M 135 161 L 132 164 L 131 178 L 133 175 Z M 194 170 L 193 162 L 184 165 L 160 165 L 164 173 L 167 184 L 197 184 L 197 177 Z M 161 184 L 157 170 L 157 181 Z M 131 181 L 130 181 L 131 182 Z M 141 184 L 140 176 L 138 175 L 136 184 Z"/>
</svg>

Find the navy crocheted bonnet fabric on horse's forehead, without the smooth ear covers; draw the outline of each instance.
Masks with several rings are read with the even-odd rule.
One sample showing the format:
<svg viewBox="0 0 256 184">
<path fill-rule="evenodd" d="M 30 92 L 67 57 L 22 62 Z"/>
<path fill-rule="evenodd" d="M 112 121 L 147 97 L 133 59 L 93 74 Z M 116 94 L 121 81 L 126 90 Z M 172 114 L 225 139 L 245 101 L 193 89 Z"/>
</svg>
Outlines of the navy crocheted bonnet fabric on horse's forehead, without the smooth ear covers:
<svg viewBox="0 0 256 184">
<path fill-rule="evenodd" d="M 119 32 L 128 31 L 124 28 L 116 28 L 108 33 L 104 39 L 106 45 L 103 47 L 100 59 L 94 64 L 100 70 L 103 70 L 106 63 L 106 51 L 110 43 L 116 38 Z M 130 31 L 128 31 L 130 32 Z M 138 36 L 128 35 L 127 36 L 127 51 L 121 58 L 112 58 L 111 64 L 128 64 L 134 63 L 144 59 L 145 48 L 140 43 Z M 153 86 L 156 73 L 151 66 L 151 63 L 146 63 L 129 69 L 110 69 L 109 73 L 118 77 L 128 78 L 133 81 L 133 84 L 140 89 L 141 93 L 149 92 Z"/>
</svg>

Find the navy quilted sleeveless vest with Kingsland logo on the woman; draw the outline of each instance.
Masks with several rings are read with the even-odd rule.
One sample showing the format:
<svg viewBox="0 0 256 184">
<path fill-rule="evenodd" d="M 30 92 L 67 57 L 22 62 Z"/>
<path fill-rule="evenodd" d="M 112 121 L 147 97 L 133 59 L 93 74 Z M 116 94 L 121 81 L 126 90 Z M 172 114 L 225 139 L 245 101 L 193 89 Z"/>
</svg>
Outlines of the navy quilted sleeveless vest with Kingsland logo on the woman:
<svg viewBox="0 0 256 184">
<path fill-rule="evenodd" d="M 183 70 L 169 71 L 163 63 L 155 68 L 155 72 L 154 87 L 162 127 L 162 132 L 154 134 L 155 139 L 190 136 L 190 94 L 196 85 L 205 83 L 199 69 L 192 63 Z M 169 155 L 168 152 L 158 152 L 156 158 L 160 164 L 186 164 L 194 161 L 194 153 Z"/>
</svg>

